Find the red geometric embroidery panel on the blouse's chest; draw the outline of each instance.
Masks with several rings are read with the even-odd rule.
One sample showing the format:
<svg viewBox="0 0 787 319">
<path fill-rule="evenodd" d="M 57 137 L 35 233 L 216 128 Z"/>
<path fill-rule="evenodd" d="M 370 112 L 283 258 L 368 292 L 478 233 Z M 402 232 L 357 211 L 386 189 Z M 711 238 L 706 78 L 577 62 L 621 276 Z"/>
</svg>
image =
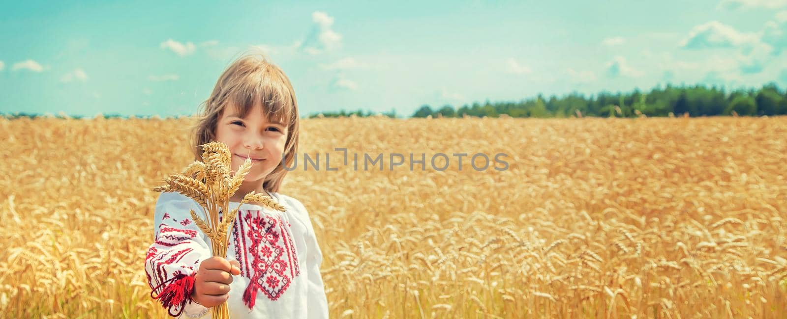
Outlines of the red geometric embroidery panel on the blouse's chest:
<svg viewBox="0 0 787 319">
<path fill-rule="evenodd" d="M 232 227 L 235 258 L 242 262 L 241 272 L 251 280 L 243 293 L 243 302 L 251 309 L 257 291 L 264 292 L 268 299 L 279 299 L 301 270 L 288 224 L 281 217 L 261 211 L 238 214 L 238 222 Z"/>
</svg>

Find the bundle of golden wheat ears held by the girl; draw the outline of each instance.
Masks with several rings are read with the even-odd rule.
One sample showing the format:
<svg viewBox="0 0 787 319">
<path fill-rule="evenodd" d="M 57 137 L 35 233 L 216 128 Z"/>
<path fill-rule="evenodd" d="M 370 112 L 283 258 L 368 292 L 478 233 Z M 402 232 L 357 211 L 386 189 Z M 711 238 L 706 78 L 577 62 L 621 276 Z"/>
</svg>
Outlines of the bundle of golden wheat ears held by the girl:
<svg viewBox="0 0 787 319">
<path fill-rule="evenodd" d="M 207 211 L 205 216 L 208 220 L 200 218 L 194 210 L 191 210 L 191 218 L 210 239 L 212 255 L 226 258 L 229 243 L 227 227 L 235 222 L 238 208 L 243 203 L 257 202 L 276 211 L 284 211 L 285 208 L 276 203 L 268 194 L 252 191 L 243 196 L 238 207 L 235 207 L 229 214 L 225 214 L 224 218 L 220 218 L 219 212 L 228 210 L 230 197 L 235 195 L 243 178 L 251 170 L 251 159 L 247 158 L 246 162 L 238 167 L 238 171 L 231 176 L 231 154 L 227 145 L 213 141 L 200 146 L 202 148 L 201 162 L 194 161 L 183 170 L 183 173 L 172 174 L 164 178 L 165 185 L 157 186 L 153 188 L 153 191 L 179 192 L 199 203 Z M 229 318 L 226 302 L 216 306 L 212 318 Z"/>
</svg>

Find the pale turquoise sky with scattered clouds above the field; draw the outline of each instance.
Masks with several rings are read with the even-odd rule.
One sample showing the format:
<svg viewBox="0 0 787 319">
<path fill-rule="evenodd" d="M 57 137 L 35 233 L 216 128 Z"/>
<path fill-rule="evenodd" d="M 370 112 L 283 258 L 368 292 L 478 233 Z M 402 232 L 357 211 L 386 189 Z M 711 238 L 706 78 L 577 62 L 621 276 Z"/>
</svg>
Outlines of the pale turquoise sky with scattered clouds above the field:
<svg viewBox="0 0 787 319">
<path fill-rule="evenodd" d="M 252 47 L 302 115 L 787 87 L 787 0 L 3 2 L 0 30 L 0 112 L 190 115 Z"/>
</svg>

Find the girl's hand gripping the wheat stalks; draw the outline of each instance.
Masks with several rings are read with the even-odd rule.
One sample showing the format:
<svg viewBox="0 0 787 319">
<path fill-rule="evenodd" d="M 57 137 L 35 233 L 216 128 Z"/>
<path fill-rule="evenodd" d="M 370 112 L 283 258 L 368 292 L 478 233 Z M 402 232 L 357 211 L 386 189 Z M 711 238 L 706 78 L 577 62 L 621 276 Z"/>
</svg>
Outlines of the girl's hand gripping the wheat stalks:
<svg viewBox="0 0 787 319">
<path fill-rule="evenodd" d="M 199 264 L 199 270 L 194 275 L 194 290 L 191 299 L 210 308 L 219 306 L 230 298 L 230 283 L 232 275 L 241 273 L 240 263 L 227 261 L 221 257 L 211 257 Z"/>
</svg>

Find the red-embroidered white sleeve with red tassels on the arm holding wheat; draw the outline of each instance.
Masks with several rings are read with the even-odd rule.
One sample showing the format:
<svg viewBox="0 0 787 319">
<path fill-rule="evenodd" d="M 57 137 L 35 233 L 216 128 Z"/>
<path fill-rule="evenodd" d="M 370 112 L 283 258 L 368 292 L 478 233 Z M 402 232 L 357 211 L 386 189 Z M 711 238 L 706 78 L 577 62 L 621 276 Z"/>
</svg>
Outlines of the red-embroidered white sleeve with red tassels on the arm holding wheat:
<svg viewBox="0 0 787 319">
<path fill-rule="evenodd" d="M 172 317 L 203 317 L 209 309 L 194 303 L 194 273 L 210 257 L 205 237 L 191 220 L 190 209 L 204 214 L 197 203 L 178 193 L 164 192 L 156 203 L 154 241 L 145 258 L 150 297 Z"/>
</svg>

